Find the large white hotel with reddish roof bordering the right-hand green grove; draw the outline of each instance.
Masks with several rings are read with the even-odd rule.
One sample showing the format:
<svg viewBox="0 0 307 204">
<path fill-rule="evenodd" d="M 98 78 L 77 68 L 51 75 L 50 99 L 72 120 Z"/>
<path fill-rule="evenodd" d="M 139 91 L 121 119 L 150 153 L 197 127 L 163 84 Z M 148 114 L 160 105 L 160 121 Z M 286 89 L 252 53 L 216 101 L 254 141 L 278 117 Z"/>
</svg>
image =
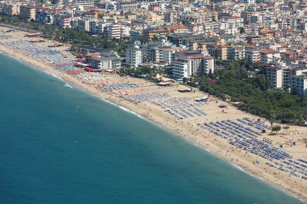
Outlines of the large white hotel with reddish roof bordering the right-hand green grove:
<svg viewBox="0 0 307 204">
<path fill-rule="evenodd" d="M 172 61 L 173 78 L 182 80 L 190 75 L 209 74 L 214 71 L 214 59 L 200 51 L 186 50 L 177 54 Z"/>
</svg>

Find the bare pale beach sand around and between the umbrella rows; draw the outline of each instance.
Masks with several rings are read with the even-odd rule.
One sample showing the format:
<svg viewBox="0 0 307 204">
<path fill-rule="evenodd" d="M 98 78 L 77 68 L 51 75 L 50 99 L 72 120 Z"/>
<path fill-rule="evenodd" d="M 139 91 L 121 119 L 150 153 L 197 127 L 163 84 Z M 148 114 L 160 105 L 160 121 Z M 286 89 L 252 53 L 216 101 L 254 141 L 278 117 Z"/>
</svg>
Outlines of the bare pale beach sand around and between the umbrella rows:
<svg viewBox="0 0 307 204">
<path fill-rule="evenodd" d="M 0 27 L 0 30 L 6 29 L 5 27 Z M 261 177 L 266 182 L 270 182 L 270 185 L 273 185 L 277 188 L 280 188 L 286 191 L 288 194 L 295 195 L 300 199 L 306 201 L 307 200 L 307 181 L 301 179 L 300 177 L 291 176 L 289 173 L 284 171 L 279 171 L 276 168 L 270 167 L 266 165 L 268 160 L 257 157 L 254 154 L 248 153 L 240 148 L 236 148 L 235 146 L 229 144 L 226 139 L 223 139 L 206 129 L 203 129 L 198 124 L 203 124 L 205 122 L 210 123 L 211 121 L 222 121 L 222 120 L 233 120 L 236 121 L 237 118 L 245 118 L 248 117 L 250 119 L 265 121 L 266 125 L 270 125 L 269 121 L 266 121 L 264 118 L 259 118 L 257 116 L 251 115 L 246 112 L 242 112 L 236 109 L 233 106 L 229 106 L 226 108 L 218 107 L 220 103 L 224 103 L 224 101 L 218 100 L 212 96 L 209 96 L 209 102 L 207 104 L 202 104 L 196 106 L 199 110 L 206 113 L 204 114 L 193 114 L 193 117 L 187 116 L 184 119 L 178 119 L 173 115 L 169 114 L 165 111 L 165 108 L 161 108 L 161 106 L 157 106 L 154 103 L 150 103 L 149 101 L 141 101 L 140 103 L 132 103 L 124 99 L 121 95 L 122 92 L 101 92 L 97 88 L 95 88 L 95 84 L 86 84 L 82 83 L 79 79 L 74 77 L 67 72 L 61 72 L 56 70 L 54 67 L 50 65 L 50 62 L 44 59 L 39 59 L 35 56 L 27 55 L 20 50 L 9 49 L 7 46 L 4 46 L 3 42 L 10 41 L 23 41 L 29 40 L 30 38 L 24 37 L 26 33 L 23 31 L 15 31 L 7 34 L 1 35 L 10 35 L 13 38 L 3 39 L 0 38 L 0 51 L 7 56 L 13 56 L 20 61 L 42 70 L 47 70 L 50 74 L 54 74 L 57 77 L 60 77 L 65 82 L 71 84 L 75 88 L 80 88 L 86 92 L 93 93 L 101 98 L 107 99 L 112 103 L 127 108 L 130 111 L 135 112 L 141 117 L 151 121 L 152 123 L 156 123 L 157 125 L 162 126 L 164 129 L 172 131 L 176 134 L 177 137 L 182 138 L 183 142 L 187 142 L 190 140 L 192 143 L 196 143 L 200 148 L 207 149 L 214 154 L 216 154 L 217 159 L 223 159 L 233 163 L 239 168 L 242 168 L 246 172 Z M 48 45 L 54 44 L 54 41 L 46 41 L 33 43 L 35 46 L 45 47 Z M 74 60 L 74 56 L 72 56 L 69 52 L 66 52 L 67 46 L 53 47 L 52 49 L 59 50 L 69 59 Z M 1 64 L 0 64 L 1 66 Z M 138 87 L 126 89 L 127 95 L 135 95 L 135 94 L 152 94 L 156 93 L 159 96 L 167 94 L 167 100 L 176 100 L 176 98 L 187 98 L 188 103 L 196 103 L 196 97 L 208 96 L 207 93 L 201 92 L 198 89 L 194 89 L 191 92 L 179 92 L 179 89 L 188 88 L 184 85 L 174 84 L 169 87 L 159 87 L 151 84 L 150 82 L 146 82 L 142 79 L 129 78 L 129 77 L 119 77 L 117 74 L 112 74 L 110 77 L 114 82 L 121 83 L 137 83 Z M 97 84 L 96 84 L 97 87 Z M 121 93 L 121 94 L 120 94 Z M 183 113 L 182 113 L 183 114 Z M 284 126 L 284 125 L 281 125 Z M 270 138 L 274 141 L 275 147 L 279 147 L 280 144 L 284 144 L 285 147 L 282 150 L 286 151 L 288 154 L 293 156 L 293 159 L 305 158 L 307 156 L 307 147 L 305 147 L 305 143 L 303 139 L 305 138 L 305 133 L 307 133 L 306 127 L 300 126 L 291 126 L 288 132 L 284 132 L 281 130 L 278 134 L 270 134 L 271 131 L 267 131 L 262 136 L 259 136 L 258 140 L 263 140 L 263 138 Z M 188 138 L 188 139 L 186 139 Z M 289 138 L 292 139 L 292 142 L 296 142 L 295 145 L 291 145 Z M 259 163 L 256 163 L 256 161 Z M 237 168 L 234 167 L 234 168 Z M 238 168 L 238 171 L 240 170 Z"/>
</svg>

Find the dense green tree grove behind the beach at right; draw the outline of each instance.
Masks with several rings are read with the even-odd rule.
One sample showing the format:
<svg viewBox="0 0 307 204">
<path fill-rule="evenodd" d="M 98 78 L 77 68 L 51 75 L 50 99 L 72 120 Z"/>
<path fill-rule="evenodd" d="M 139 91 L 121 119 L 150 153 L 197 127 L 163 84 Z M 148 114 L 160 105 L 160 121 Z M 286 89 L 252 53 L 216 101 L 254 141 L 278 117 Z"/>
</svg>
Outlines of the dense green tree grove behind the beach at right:
<svg viewBox="0 0 307 204">
<path fill-rule="evenodd" d="M 222 99 L 229 95 L 233 101 L 244 103 L 238 107 L 240 110 L 254 115 L 282 123 L 304 124 L 307 98 L 288 91 L 270 90 L 270 82 L 261 71 L 256 77 L 249 77 L 249 69 L 254 66 L 257 65 L 250 66 L 245 60 L 233 60 L 209 76 L 191 78 L 190 84 Z"/>
</svg>

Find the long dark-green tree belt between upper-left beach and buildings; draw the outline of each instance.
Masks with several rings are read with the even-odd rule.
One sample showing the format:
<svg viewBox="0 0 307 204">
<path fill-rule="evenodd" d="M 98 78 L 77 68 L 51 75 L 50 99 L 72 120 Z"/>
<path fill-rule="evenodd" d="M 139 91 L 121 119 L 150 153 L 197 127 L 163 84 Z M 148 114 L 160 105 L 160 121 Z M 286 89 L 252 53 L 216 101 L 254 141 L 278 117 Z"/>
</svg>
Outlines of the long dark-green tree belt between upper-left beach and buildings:
<svg viewBox="0 0 307 204">
<path fill-rule="evenodd" d="M 76 31 L 71 28 L 62 29 L 55 25 L 44 25 L 38 22 L 9 16 L 1 16 L 1 22 L 26 28 L 29 29 L 29 31 L 41 32 L 47 39 L 55 39 L 62 43 L 70 43 L 73 52 L 78 51 L 79 45 L 99 43 L 103 48 L 113 49 L 118 52 L 120 56 L 125 56 L 124 50 L 128 48 L 128 41 L 126 40 L 111 39 L 106 36 L 91 36 L 88 32 Z"/>
</svg>

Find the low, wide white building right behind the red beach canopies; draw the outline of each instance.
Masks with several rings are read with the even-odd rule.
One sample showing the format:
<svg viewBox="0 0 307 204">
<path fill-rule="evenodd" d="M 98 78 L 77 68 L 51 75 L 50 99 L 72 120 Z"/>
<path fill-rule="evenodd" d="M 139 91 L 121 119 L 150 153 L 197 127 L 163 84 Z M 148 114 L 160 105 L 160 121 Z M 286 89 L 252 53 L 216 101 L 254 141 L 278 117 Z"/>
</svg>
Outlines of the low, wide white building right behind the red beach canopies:
<svg viewBox="0 0 307 204">
<path fill-rule="evenodd" d="M 93 57 L 92 67 L 95 69 L 119 69 L 121 67 L 121 59 L 117 57 Z"/>
</svg>

